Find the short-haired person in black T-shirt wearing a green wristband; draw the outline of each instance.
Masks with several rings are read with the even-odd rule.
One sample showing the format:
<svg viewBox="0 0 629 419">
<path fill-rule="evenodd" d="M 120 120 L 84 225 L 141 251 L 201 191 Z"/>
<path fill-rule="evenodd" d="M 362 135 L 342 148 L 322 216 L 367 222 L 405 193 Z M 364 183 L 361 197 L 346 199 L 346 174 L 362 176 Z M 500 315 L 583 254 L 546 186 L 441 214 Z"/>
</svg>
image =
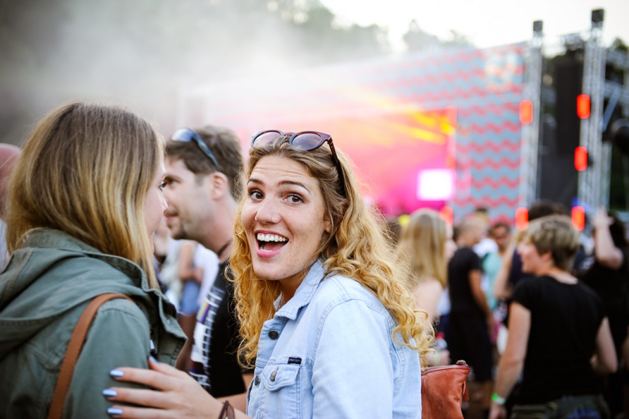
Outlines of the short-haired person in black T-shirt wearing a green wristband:
<svg viewBox="0 0 629 419">
<path fill-rule="evenodd" d="M 601 299 L 569 273 L 578 247 L 579 233 L 562 215 L 532 221 L 518 245 L 522 269 L 533 277 L 513 293 L 491 419 L 507 417 L 504 398 L 520 374 L 511 418 L 608 417 L 594 374 L 618 364 Z"/>
</svg>

